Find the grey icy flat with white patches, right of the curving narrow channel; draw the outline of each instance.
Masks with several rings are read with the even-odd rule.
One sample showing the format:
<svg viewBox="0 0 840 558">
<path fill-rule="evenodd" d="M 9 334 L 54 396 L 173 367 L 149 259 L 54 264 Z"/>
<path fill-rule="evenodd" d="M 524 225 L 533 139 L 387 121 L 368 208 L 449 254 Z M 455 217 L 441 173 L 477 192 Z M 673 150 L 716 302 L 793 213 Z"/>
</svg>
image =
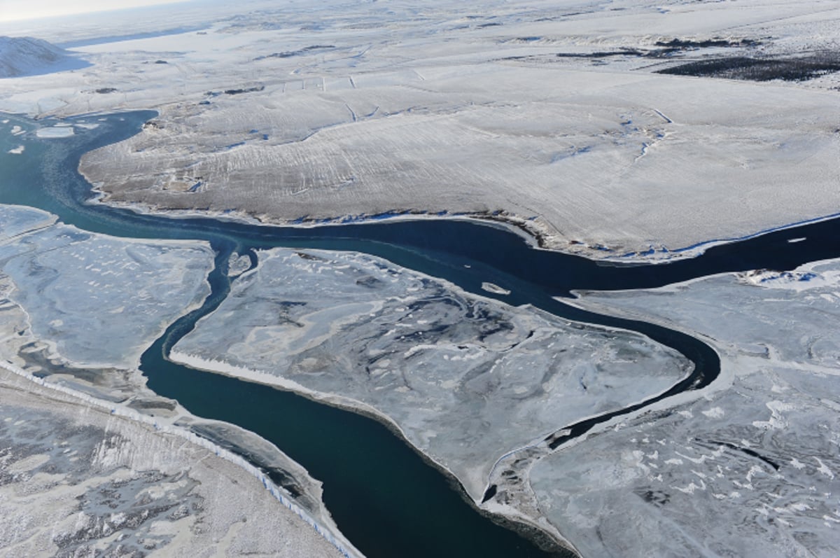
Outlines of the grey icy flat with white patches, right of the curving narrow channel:
<svg viewBox="0 0 840 558">
<path fill-rule="evenodd" d="M 582 293 L 700 336 L 722 374 L 539 461 L 540 512 L 584 555 L 837 555 L 838 302 L 840 260 Z"/>
</svg>

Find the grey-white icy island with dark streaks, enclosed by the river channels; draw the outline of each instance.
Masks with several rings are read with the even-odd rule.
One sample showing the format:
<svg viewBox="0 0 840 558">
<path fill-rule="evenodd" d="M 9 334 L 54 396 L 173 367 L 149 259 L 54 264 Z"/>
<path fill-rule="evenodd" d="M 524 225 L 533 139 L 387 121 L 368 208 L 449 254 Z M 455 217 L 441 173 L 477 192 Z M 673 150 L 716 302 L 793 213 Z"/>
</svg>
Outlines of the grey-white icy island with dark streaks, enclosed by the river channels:
<svg viewBox="0 0 840 558">
<path fill-rule="evenodd" d="M 502 456 L 691 370 L 641 334 L 512 308 L 372 256 L 288 249 L 260 252 L 171 358 L 373 413 L 476 505 Z M 563 539 L 528 507 L 527 490 L 508 498 L 506 510 L 486 508 Z"/>
</svg>

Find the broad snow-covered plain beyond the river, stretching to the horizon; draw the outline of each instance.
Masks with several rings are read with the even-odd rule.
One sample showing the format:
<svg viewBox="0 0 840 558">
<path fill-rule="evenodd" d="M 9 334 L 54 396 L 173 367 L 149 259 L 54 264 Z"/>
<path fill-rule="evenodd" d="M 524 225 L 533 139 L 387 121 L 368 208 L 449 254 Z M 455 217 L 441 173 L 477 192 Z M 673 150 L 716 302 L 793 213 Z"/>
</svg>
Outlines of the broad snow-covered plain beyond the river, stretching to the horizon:
<svg viewBox="0 0 840 558">
<path fill-rule="evenodd" d="M 840 210 L 837 74 L 654 73 L 837 53 L 831 2 L 211 3 L 156 23 L 155 9 L 98 32 L 21 29 L 93 66 L 0 93 L 27 113 L 158 109 L 83 161 L 113 203 L 279 222 L 501 211 L 601 258 Z"/>
</svg>

